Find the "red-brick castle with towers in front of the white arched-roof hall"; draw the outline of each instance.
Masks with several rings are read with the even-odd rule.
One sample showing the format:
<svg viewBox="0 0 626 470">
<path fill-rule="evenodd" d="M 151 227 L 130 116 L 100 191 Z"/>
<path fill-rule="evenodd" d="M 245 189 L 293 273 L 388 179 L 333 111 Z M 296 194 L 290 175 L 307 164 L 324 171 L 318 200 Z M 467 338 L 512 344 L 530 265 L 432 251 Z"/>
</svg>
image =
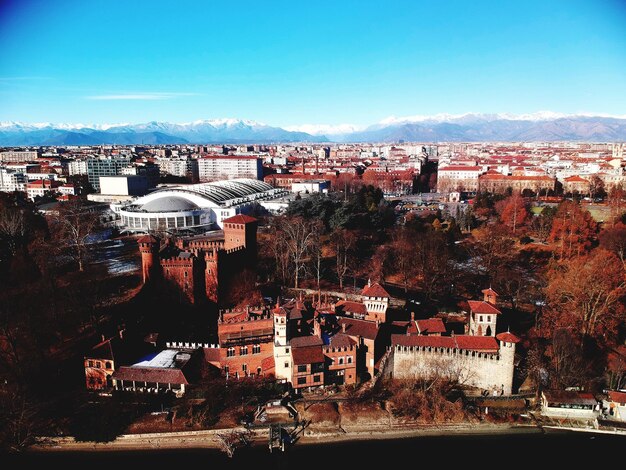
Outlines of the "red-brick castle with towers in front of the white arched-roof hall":
<svg viewBox="0 0 626 470">
<path fill-rule="evenodd" d="M 223 221 L 223 230 L 167 239 L 153 235 L 137 240 L 144 284 L 171 287 L 195 304 L 218 303 L 236 273 L 254 270 L 257 220 L 238 214 Z"/>
</svg>

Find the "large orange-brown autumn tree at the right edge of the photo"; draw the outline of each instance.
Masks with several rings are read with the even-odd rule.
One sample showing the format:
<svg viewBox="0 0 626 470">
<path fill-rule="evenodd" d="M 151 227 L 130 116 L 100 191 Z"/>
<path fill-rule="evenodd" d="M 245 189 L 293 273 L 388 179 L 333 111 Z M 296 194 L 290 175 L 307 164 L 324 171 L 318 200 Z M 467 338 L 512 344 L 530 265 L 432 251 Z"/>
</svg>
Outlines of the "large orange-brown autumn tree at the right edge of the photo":
<svg viewBox="0 0 626 470">
<path fill-rule="evenodd" d="M 548 273 L 547 311 L 552 326 L 573 328 L 581 337 L 609 338 L 626 320 L 624 265 L 612 252 L 565 260 Z"/>
</svg>

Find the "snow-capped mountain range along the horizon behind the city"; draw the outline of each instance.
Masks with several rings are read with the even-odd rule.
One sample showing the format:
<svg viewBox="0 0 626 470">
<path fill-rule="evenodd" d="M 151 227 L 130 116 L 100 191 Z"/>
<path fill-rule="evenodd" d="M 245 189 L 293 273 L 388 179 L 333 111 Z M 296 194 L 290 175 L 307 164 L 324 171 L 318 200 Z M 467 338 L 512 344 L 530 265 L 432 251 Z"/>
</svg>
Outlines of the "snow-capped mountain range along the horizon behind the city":
<svg viewBox="0 0 626 470">
<path fill-rule="evenodd" d="M 303 124 L 269 126 L 225 118 L 187 123 L 52 124 L 0 122 L 0 146 L 280 143 L 280 142 L 477 142 L 626 140 L 626 115 L 436 114 L 390 116 L 370 126 Z"/>
</svg>

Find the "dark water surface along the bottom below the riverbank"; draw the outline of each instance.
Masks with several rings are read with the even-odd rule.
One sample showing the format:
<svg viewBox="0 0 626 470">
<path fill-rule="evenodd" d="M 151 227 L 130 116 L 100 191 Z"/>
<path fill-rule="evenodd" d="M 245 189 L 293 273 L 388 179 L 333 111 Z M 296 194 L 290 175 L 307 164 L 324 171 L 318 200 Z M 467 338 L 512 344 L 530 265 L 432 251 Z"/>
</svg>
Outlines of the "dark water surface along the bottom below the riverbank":
<svg viewBox="0 0 626 470">
<path fill-rule="evenodd" d="M 428 436 L 361 440 L 334 444 L 296 444 L 286 452 L 265 446 L 239 449 L 233 458 L 213 449 L 37 452 L 11 455 L 28 468 L 198 468 L 198 469 L 543 469 L 608 468 L 624 455 L 626 437 L 581 432 L 537 432 L 505 435 Z M 612 457 L 609 457 L 612 456 Z M 607 460 L 608 459 L 608 460 Z M 45 464 L 46 467 L 36 467 Z M 32 467 L 31 467 L 32 465 Z M 59 465 L 59 467 L 56 467 Z M 81 466 L 81 467 L 79 467 Z M 22 468 L 4 467 L 4 468 Z M 27 468 L 27 467 L 23 467 Z"/>
</svg>

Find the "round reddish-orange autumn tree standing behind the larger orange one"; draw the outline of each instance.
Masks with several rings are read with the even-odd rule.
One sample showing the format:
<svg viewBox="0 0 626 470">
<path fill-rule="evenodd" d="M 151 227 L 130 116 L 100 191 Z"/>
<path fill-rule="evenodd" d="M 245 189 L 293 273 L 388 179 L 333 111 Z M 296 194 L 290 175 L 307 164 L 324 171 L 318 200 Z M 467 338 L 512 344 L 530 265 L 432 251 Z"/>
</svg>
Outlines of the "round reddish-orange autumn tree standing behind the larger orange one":
<svg viewBox="0 0 626 470">
<path fill-rule="evenodd" d="M 570 258 L 588 252 L 596 232 L 597 224 L 589 211 L 574 201 L 564 201 L 554 215 L 549 241 L 558 243 L 555 255 Z"/>
</svg>

